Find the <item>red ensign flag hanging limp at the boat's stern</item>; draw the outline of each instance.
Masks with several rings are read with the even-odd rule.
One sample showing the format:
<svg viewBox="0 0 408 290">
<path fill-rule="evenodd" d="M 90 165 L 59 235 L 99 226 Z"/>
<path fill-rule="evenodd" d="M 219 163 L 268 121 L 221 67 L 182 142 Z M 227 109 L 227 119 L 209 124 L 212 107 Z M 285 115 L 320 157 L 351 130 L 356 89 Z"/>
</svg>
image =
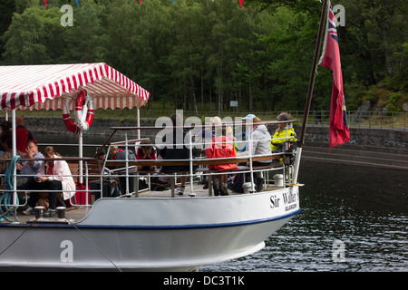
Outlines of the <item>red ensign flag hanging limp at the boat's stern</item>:
<svg viewBox="0 0 408 290">
<path fill-rule="evenodd" d="M 329 0 L 328 0 L 329 1 Z M 329 1 L 327 11 L 327 24 L 325 43 L 319 64 L 333 71 L 333 91 L 330 105 L 330 148 L 339 146 L 350 140 L 350 131 L 345 111 L 345 93 L 343 92 L 343 75 L 340 63 L 340 50 L 338 46 L 337 30 L 335 29 L 335 14 Z"/>
</svg>

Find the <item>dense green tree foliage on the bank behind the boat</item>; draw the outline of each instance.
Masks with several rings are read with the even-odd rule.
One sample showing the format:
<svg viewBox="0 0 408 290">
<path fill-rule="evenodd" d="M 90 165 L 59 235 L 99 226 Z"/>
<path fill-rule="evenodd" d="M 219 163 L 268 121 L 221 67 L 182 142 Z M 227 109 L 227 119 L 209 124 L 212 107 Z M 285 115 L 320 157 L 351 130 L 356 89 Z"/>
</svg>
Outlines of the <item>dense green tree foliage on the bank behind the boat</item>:
<svg viewBox="0 0 408 290">
<path fill-rule="evenodd" d="M 4 4 L 3 4 L 4 3 Z M 60 7 L 73 6 L 63 27 Z M 407 5 L 403 0 L 339 0 L 338 27 L 348 109 L 389 80 L 406 88 Z M 112 65 L 163 108 L 218 113 L 302 110 L 321 3 L 316 0 L 4 1 L 0 63 Z M 332 76 L 318 69 L 312 109 L 328 110 Z M 400 93 L 404 95 L 404 92 Z M 151 106 L 151 102 L 150 102 Z"/>
</svg>

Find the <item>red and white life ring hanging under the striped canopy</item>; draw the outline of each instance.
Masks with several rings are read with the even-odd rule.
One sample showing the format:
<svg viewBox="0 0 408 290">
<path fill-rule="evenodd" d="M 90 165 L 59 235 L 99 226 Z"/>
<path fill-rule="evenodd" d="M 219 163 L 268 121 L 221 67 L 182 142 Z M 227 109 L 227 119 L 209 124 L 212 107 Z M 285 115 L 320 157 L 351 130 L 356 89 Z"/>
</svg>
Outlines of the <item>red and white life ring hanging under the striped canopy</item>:
<svg viewBox="0 0 408 290">
<path fill-rule="evenodd" d="M 74 134 L 87 131 L 91 127 L 93 120 L 93 100 L 91 94 L 84 89 L 78 92 L 74 106 L 74 121 L 71 119 L 69 111 L 72 102 L 72 98 L 65 97 L 63 104 L 63 122 L 65 123 L 66 129 Z"/>
</svg>

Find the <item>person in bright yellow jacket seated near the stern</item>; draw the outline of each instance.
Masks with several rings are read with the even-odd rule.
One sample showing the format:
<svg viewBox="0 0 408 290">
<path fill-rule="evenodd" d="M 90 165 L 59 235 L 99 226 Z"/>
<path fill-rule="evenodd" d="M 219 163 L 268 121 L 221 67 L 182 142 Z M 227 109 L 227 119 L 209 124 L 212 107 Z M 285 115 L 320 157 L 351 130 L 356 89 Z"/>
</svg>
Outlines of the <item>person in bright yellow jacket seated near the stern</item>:
<svg viewBox="0 0 408 290">
<path fill-rule="evenodd" d="M 283 112 L 277 116 L 277 121 L 289 121 L 292 117 L 289 113 Z M 272 153 L 281 153 L 288 150 L 288 142 L 296 142 L 296 132 L 290 123 L 279 123 L 277 130 L 270 142 Z M 273 160 L 277 162 L 277 160 Z"/>
</svg>

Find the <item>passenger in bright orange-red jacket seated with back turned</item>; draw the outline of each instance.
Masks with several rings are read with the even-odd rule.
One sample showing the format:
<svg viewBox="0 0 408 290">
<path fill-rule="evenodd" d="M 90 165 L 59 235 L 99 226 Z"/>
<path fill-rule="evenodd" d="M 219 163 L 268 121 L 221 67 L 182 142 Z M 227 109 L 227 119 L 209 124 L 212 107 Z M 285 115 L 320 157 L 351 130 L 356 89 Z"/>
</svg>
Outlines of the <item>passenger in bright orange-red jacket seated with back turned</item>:
<svg viewBox="0 0 408 290">
<path fill-rule="evenodd" d="M 222 136 L 215 137 L 211 140 L 211 143 L 206 149 L 206 155 L 209 159 L 217 159 L 217 158 L 230 158 L 230 157 L 237 157 L 236 150 L 234 148 L 234 144 L 232 140 L 226 137 L 226 128 L 225 126 L 222 127 Z M 219 170 L 224 171 L 228 169 L 237 169 L 236 163 L 230 164 L 210 164 L 209 170 Z M 213 189 L 214 195 L 219 196 L 226 196 L 228 195 L 228 175 L 227 174 L 220 174 L 219 178 L 219 185 L 217 186 L 217 177 L 215 175 L 212 176 L 213 181 Z"/>
</svg>

